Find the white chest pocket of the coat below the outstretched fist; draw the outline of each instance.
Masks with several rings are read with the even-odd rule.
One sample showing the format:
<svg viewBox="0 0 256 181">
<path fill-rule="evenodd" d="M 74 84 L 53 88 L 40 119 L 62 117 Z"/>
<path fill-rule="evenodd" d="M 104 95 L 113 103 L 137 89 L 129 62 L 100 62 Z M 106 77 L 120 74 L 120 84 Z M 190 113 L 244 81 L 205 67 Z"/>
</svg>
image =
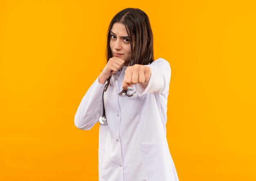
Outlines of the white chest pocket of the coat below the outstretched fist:
<svg viewBox="0 0 256 181">
<path fill-rule="evenodd" d="M 132 94 L 134 91 L 128 91 L 128 94 Z M 136 116 L 138 114 L 144 114 L 147 108 L 147 95 L 139 96 L 131 96 L 126 97 L 127 100 L 127 112 L 131 116 Z"/>
</svg>

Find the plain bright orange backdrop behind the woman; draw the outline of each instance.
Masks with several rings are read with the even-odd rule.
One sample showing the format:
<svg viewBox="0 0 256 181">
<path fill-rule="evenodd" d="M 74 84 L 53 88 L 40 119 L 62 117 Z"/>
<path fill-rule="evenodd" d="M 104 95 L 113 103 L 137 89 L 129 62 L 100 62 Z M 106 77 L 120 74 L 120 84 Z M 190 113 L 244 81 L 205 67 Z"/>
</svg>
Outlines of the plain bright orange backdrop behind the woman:
<svg viewBox="0 0 256 181">
<path fill-rule="evenodd" d="M 256 4 L 0 1 L 0 180 L 96 181 L 99 123 L 74 126 L 110 20 L 145 11 L 172 76 L 167 138 L 180 181 L 255 181 Z"/>
</svg>

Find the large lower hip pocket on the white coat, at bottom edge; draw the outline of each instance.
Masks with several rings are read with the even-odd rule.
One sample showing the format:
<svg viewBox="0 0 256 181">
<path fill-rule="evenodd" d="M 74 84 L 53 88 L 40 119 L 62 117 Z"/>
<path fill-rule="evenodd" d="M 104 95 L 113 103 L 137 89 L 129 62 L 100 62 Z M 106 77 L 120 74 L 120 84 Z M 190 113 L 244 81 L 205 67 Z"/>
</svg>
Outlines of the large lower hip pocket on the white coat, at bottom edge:
<svg viewBox="0 0 256 181">
<path fill-rule="evenodd" d="M 148 181 L 173 181 L 171 179 L 171 160 L 168 156 L 167 144 L 140 143 Z"/>
</svg>

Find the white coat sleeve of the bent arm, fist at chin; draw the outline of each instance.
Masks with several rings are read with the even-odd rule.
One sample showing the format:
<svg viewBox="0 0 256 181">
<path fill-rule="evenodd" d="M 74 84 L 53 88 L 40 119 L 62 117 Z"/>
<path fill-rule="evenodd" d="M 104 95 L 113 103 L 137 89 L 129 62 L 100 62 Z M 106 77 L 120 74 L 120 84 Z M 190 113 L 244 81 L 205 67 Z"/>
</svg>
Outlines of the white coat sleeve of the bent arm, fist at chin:
<svg viewBox="0 0 256 181">
<path fill-rule="evenodd" d="M 81 130 L 90 130 L 103 112 L 102 94 L 104 84 L 99 83 L 99 76 L 83 96 L 74 117 L 75 126 Z"/>
</svg>

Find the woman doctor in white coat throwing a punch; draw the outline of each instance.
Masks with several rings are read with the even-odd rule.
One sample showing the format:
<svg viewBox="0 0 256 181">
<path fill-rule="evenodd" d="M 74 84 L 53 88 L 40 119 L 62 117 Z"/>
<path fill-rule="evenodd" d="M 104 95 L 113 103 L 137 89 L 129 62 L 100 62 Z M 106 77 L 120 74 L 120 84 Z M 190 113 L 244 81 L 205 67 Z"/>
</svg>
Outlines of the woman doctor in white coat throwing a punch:
<svg viewBox="0 0 256 181">
<path fill-rule="evenodd" d="M 127 8 L 108 28 L 107 64 L 86 92 L 75 126 L 99 127 L 99 181 L 178 181 L 166 139 L 171 68 L 154 60 L 148 16 Z"/>
</svg>

